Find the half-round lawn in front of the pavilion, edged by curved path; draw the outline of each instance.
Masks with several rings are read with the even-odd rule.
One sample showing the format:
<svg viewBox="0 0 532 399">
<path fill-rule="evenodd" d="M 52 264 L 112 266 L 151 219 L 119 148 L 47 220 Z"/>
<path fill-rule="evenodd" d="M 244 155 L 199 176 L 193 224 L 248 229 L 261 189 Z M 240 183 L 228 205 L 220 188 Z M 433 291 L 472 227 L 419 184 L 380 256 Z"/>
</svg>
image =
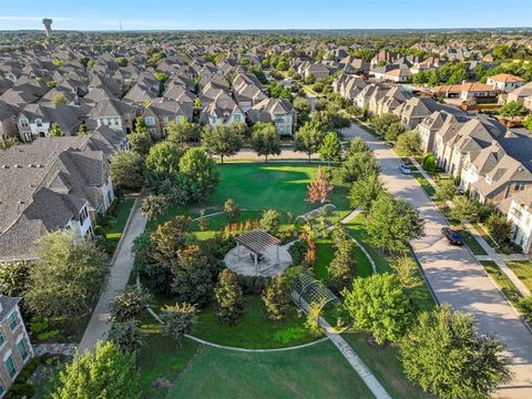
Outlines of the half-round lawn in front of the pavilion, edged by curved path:
<svg viewBox="0 0 532 399">
<path fill-rule="evenodd" d="M 213 304 L 198 314 L 194 336 L 219 345 L 270 349 L 307 344 L 316 340 L 305 328 L 305 317 L 297 317 L 295 305 L 290 304 L 287 318 L 270 321 L 266 318 L 264 303 L 259 296 L 246 296 L 244 315 L 234 326 L 222 325 L 215 316 Z"/>
</svg>

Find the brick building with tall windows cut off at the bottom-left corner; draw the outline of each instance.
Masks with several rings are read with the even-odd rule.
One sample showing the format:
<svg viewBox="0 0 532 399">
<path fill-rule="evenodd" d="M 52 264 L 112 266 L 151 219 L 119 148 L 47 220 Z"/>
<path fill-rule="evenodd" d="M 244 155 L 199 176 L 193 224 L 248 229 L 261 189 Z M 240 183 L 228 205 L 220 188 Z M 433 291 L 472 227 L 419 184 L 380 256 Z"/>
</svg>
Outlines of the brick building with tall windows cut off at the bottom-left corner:
<svg viewBox="0 0 532 399">
<path fill-rule="evenodd" d="M 0 398 L 34 356 L 19 303 L 22 298 L 0 294 Z"/>
</svg>

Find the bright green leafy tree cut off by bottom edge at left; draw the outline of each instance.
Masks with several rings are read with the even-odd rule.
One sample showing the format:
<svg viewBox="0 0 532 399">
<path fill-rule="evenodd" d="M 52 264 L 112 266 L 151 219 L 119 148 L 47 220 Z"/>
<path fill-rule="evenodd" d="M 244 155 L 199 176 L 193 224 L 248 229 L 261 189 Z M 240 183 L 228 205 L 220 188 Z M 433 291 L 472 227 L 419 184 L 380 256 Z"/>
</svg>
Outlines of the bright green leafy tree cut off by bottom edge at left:
<svg viewBox="0 0 532 399">
<path fill-rule="evenodd" d="M 135 356 L 115 344 L 98 341 L 94 352 L 76 354 L 59 374 L 52 399 L 140 399 L 140 375 Z"/>
</svg>

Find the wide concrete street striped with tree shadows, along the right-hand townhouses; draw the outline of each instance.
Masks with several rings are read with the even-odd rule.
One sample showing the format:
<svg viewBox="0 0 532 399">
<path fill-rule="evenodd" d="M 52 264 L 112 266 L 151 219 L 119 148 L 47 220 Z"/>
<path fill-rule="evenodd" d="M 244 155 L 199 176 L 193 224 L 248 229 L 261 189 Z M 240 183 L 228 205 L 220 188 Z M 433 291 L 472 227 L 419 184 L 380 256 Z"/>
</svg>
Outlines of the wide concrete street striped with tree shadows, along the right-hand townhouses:
<svg viewBox="0 0 532 399">
<path fill-rule="evenodd" d="M 361 137 L 375 151 L 381 177 L 391 194 L 401 195 L 419 209 L 426 235 L 411 243 L 438 300 L 472 313 L 483 334 L 497 335 L 507 345 L 514 378 L 499 395 L 532 398 L 532 335 L 519 319 L 482 266 L 466 247 L 451 246 L 441 235 L 448 225 L 416 178 L 399 172 L 401 160 L 386 144 L 358 125 L 344 130 L 346 139 Z"/>
</svg>

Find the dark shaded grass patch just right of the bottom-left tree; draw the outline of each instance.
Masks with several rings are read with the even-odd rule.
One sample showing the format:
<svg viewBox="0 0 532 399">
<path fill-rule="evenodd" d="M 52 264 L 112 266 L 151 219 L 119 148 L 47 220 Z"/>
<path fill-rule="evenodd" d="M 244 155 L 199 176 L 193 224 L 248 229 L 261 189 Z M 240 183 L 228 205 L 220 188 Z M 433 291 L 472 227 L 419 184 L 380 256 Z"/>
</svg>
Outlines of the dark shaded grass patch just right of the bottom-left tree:
<svg viewBox="0 0 532 399">
<path fill-rule="evenodd" d="M 146 339 L 136 356 L 136 364 L 141 371 L 143 398 L 165 398 L 168 388 L 154 387 L 154 382 L 161 378 L 174 385 L 201 345 L 185 338 L 178 347 L 173 338 L 161 332 L 161 325 L 147 311 L 142 315 L 141 323 Z"/>
</svg>

